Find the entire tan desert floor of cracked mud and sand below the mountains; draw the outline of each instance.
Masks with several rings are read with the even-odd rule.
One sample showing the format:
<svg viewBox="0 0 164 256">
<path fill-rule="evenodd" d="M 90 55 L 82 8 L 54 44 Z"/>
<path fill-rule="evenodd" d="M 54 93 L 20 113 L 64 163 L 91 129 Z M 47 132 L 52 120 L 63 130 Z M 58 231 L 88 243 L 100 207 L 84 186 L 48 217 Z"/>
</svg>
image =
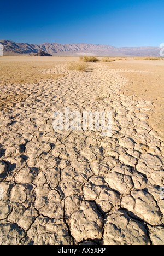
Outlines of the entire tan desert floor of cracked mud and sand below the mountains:
<svg viewBox="0 0 164 256">
<path fill-rule="evenodd" d="M 164 61 L 71 61 L 0 57 L 0 244 L 164 245 Z M 112 135 L 55 131 L 66 107 Z"/>
</svg>

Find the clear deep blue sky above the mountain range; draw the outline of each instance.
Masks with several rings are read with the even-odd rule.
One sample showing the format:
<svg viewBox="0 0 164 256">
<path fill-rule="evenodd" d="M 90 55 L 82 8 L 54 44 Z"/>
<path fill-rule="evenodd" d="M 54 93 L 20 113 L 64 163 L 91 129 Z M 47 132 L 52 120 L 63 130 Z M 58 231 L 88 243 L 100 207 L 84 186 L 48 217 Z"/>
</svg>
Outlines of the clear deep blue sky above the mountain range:
<svg viewBox="0 0 164 256">
<path fill-rule="evenodd" d="M 163 0 L 3 1 L 0 39 L 116 47 L 164 43 Z"/>
</svg>

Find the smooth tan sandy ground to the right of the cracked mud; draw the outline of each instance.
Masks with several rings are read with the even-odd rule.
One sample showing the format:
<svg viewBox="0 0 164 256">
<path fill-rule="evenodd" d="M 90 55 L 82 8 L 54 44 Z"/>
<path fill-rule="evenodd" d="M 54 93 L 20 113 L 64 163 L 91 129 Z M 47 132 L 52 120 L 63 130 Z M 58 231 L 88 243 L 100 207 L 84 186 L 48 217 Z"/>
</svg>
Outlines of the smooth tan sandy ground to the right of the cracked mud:
<svg viewBox="0 0 164 256">
<path fill-rule="evenodd" d="M 164 136 L 164 61 L 145 61 L 127 58 L 125 61 L 106 63 L 111 69 L 121 71 L 128 82 L 121 92 L 154 103 L 148 123 Z M 124 73 L 123 73 L 124 72 Z"/>
</svg>

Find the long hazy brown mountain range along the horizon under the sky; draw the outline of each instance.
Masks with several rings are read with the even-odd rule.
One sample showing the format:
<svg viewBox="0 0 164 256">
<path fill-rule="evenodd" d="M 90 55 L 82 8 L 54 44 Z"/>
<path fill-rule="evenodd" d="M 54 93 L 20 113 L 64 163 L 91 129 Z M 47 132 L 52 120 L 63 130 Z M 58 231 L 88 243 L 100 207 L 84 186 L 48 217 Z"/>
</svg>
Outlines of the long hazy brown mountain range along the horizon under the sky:
<svg viewBox="0 0 164 256">
<path fill-rule="evenodd" d="M 0 40 L 4 46 L 4 55 L 33 55 L 45 51 L 52 56 L 157 56 L 160 55 L 159 47 L 123 47 L 116 48 L 101 44 L 27 44 Z"/>
</svg>

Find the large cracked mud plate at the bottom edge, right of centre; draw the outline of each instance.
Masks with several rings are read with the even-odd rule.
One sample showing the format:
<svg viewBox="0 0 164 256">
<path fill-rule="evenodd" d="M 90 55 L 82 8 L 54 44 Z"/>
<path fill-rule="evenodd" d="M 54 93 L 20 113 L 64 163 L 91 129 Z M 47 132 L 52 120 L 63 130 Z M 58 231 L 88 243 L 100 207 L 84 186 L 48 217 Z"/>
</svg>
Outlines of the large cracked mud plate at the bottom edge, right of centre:
<svg viewBox="0 0 164 256">
<path fill-rule="evenodd" d="M 130 218 L 120 209 L 106 215 L 102 243 L 103 245 L 150 245 L 145 224 Z"/>
</svg>

